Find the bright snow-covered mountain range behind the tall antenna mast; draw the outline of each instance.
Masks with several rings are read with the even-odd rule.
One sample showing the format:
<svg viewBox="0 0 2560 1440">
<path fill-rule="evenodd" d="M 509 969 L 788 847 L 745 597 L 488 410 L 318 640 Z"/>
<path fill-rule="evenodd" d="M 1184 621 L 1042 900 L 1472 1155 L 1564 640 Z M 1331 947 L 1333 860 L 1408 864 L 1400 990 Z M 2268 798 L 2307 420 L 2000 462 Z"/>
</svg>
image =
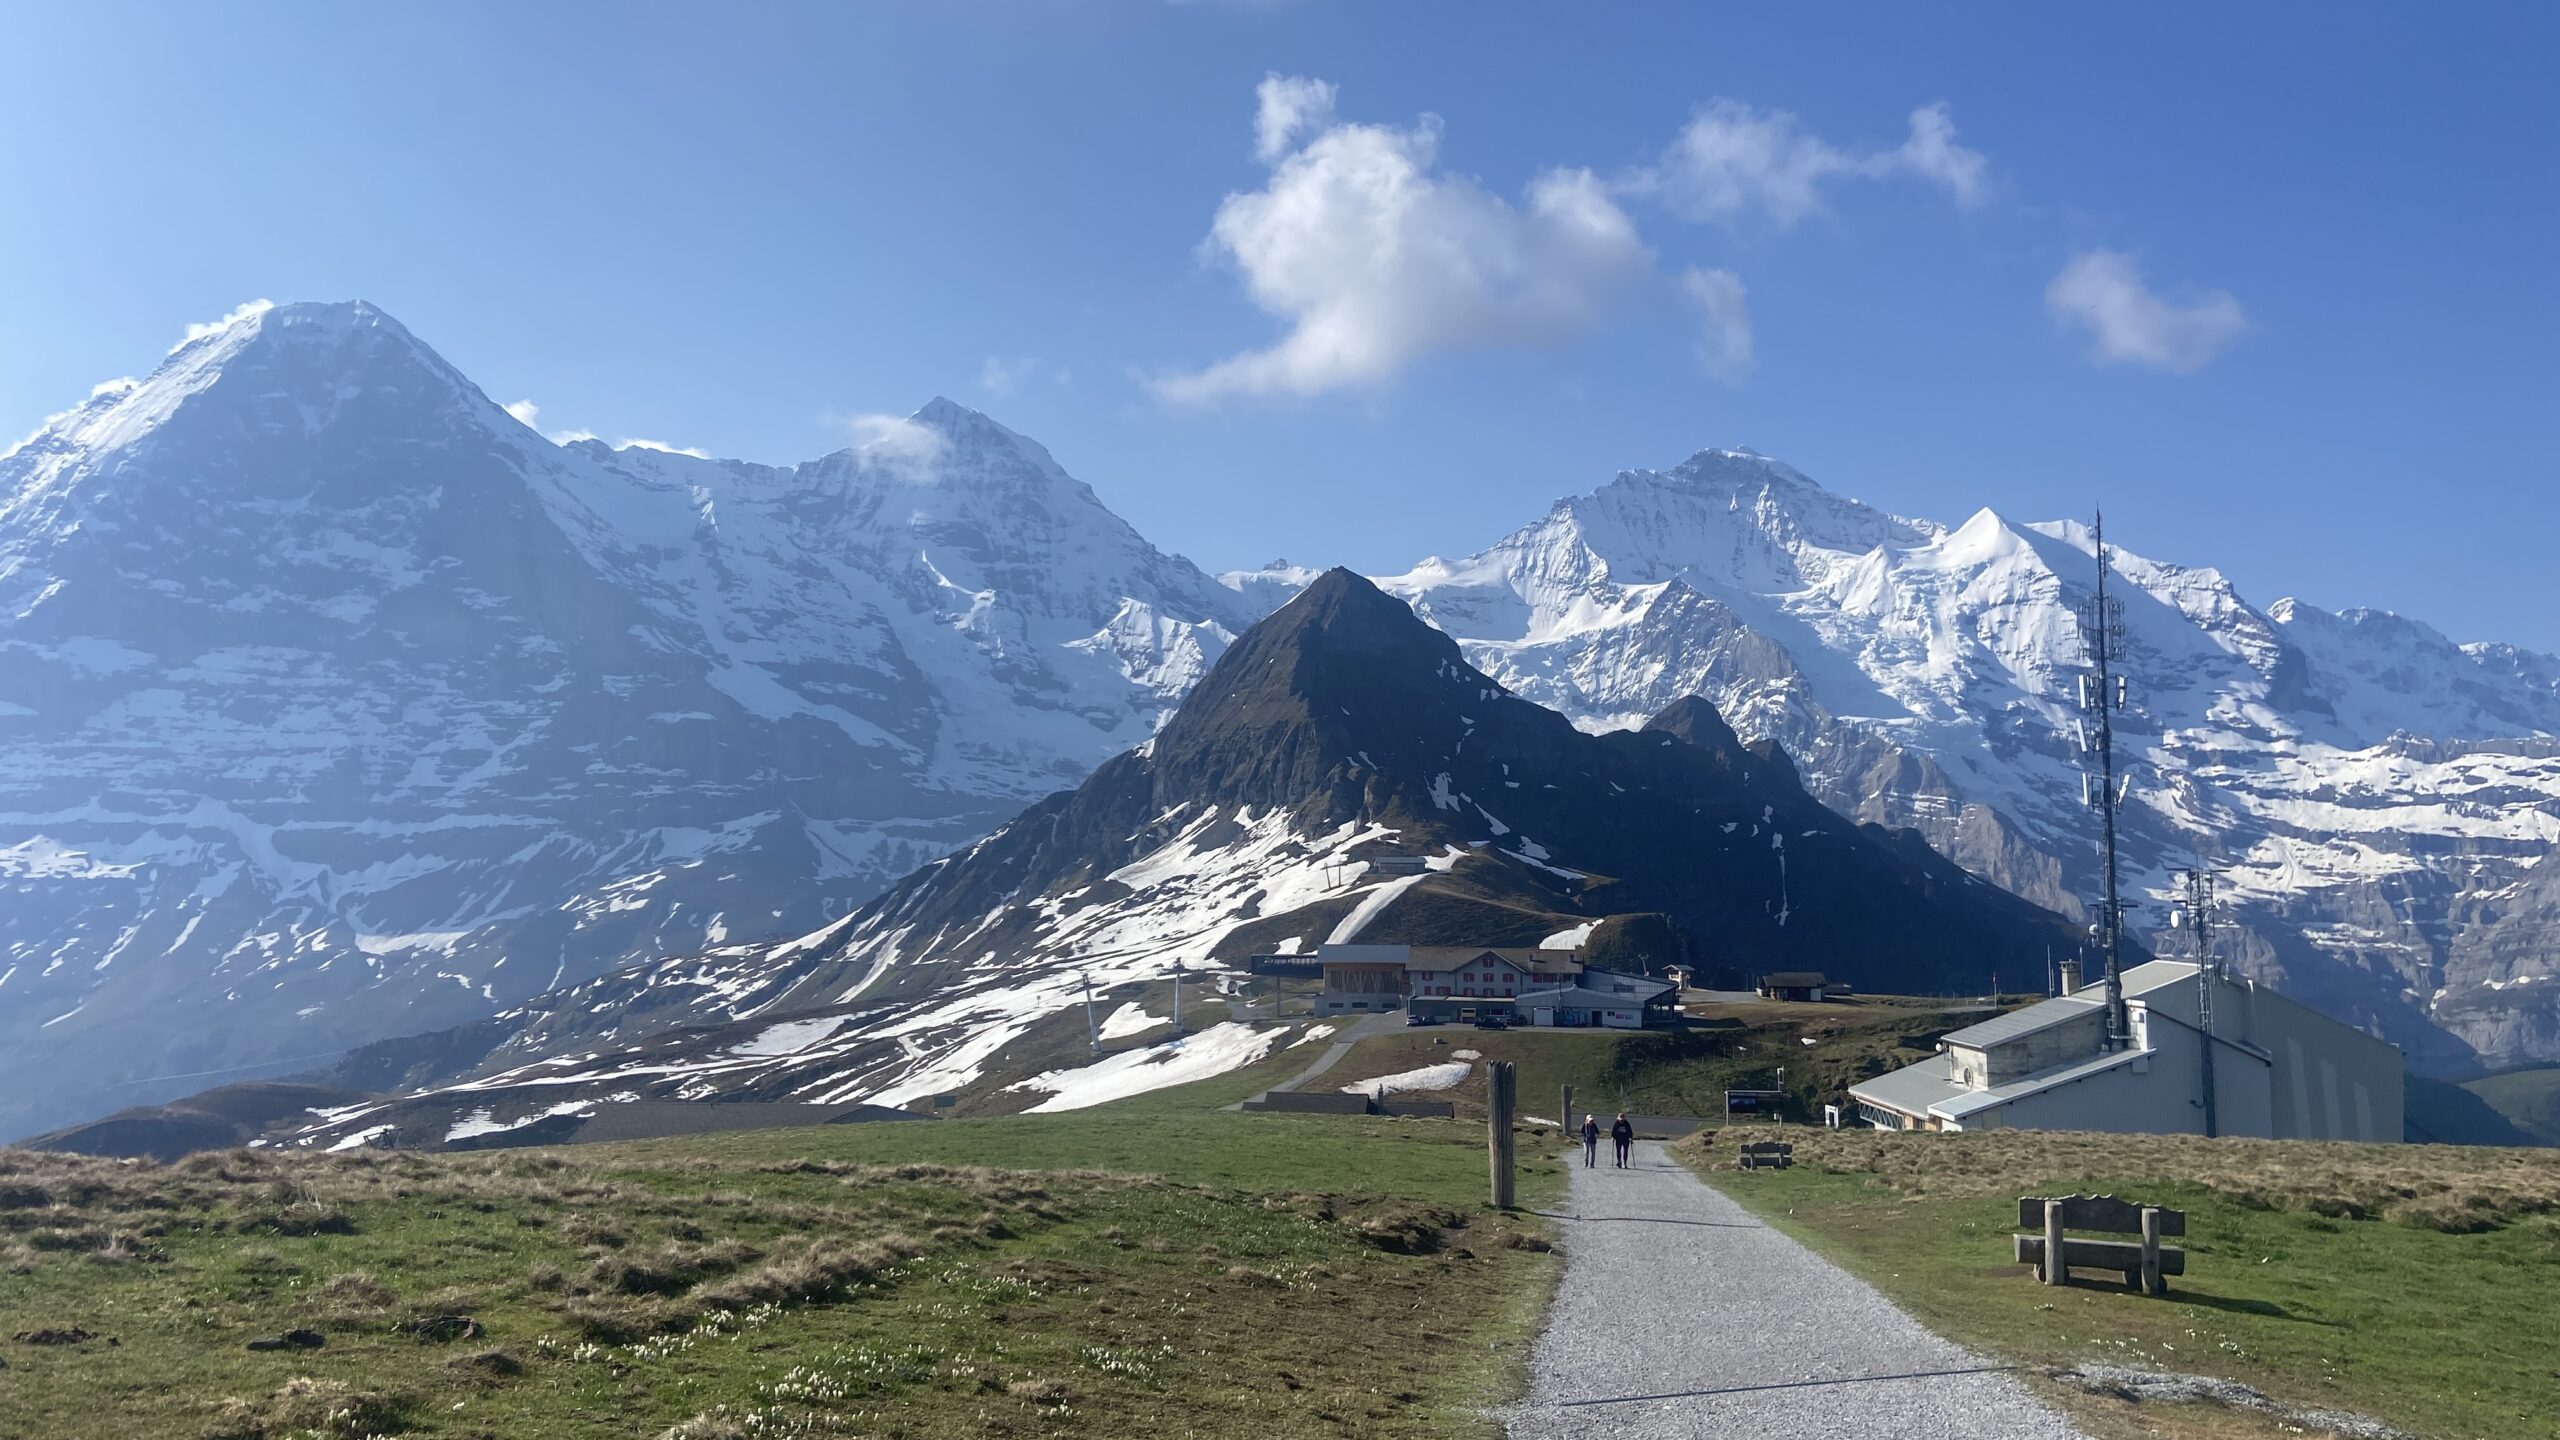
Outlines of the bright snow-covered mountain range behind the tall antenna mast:
<svg viewBox="0 0 2560 1440">
<path fill-rule="evenodd" d="M 2237 963 L 2376 1025 L 2422 1068 L 2560 1058 L 2560 661 L 2112 551 L 2130 641 L 2130 856 L 2230 866 Z M 1288 571 L 1226 577 L 1242 597 Z M 1623 471 L 1380 584 L 1513 692 L 1590 730 L 1684 694 L 1784 746 L 1843 815 L 1910 825 L 2076 910 L 2081 523 L 1907 520 L 1751 451 Z M 2179 940 L 2158 938 L 2163 951 Z"/>
</svg>

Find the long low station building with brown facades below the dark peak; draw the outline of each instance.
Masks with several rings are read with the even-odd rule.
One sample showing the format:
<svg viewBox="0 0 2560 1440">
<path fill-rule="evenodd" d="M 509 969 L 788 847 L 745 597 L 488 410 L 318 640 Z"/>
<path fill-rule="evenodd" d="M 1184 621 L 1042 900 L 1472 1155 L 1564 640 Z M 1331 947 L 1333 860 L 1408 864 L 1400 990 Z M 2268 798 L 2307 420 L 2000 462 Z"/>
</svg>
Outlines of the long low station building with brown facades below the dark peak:
<svg viewBox="0 0 2560 1440">
<path fill-rule="evenodd" d="M 1498 1015 L 1516 1025 L 1641 1030 L 1667 1022 L 1672 981 L 1585 966 L 1580 951 L 1482 945 L 1318 945 L 1316 1015 L 1411 1010 L 1423 1020 Z"/>
</svg>

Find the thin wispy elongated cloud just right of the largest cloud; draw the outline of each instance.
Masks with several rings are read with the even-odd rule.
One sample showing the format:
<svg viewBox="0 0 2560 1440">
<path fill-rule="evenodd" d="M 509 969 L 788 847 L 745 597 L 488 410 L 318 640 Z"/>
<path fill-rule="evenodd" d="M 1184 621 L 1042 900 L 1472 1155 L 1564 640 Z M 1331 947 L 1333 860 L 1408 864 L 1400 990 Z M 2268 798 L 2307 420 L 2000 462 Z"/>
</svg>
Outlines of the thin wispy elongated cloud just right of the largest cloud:
<svg viewBox="0 0 2560 1440">
<path fill-rule="evenodd" d="M 1741 100 L 1702 105 L 1661 161 L 1623 182 L 1692 220 L 1741 223 L 1754 213 L 1777 228 L 1823 208 L 1833 179 L 1912 174 L 1943 184 L 1956 205 L 1979 205 L 1989 182 L 1981 151 L 1956 143 L 1956 118 L 1938 105 L 1910 115 L 1910 138 L 1889 151 L 1843 151 L 1807 133 L 1787 110 L 1754 110 Z"/>
</svg>

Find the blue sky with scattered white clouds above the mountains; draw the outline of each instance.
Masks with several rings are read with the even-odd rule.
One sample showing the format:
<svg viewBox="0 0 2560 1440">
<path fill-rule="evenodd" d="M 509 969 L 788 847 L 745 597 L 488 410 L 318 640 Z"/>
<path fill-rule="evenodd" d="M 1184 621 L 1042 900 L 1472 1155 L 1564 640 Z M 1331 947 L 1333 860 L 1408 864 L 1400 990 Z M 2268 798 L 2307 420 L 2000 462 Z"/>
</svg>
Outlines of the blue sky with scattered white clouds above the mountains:
<svg viewBox="0 0 2560 1440">
<path fill-rule="evenodd" d="M 189 320 L 366 297 L 548 430 L 794 461 L 950 395 L 1211 569 L 1403 569 L 1754 446 L 2560 648 L 2550 8 L 84 3 L 0 36 L 10 436 Z"/>
</svg>

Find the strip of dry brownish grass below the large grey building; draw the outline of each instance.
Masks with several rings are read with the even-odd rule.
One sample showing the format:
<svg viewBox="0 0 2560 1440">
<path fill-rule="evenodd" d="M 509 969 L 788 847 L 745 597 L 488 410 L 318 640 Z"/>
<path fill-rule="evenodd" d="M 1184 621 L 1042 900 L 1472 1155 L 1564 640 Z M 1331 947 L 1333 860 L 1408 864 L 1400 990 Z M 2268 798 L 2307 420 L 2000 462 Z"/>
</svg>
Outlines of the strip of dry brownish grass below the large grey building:
<svg viewBox="0 0 2560 1440">
<path fill-rule="evenodd" d="M 1702 1130 L 1690 1148 L 1731 1150 L 1741 1130 Z M 1764 1138 L 1764 1127 L 1751 1127 Z M 1874 1176 L 1907 1197 L 2028 1194 L 2163 1176 L 2232 1204 L 2335 1220 L 2391 1220 L 2458 1235 L 2529 1215 L 2560 1215 L 2560 1150 L 2483 1145 L 2348 1145 L 2332 1140 L 2207 1140 L 2202 1135 L 2086 1135 L 1981 1130 L 1892 1135 L 1789 1127 L 1795 1158 Z"/>
</svg>

